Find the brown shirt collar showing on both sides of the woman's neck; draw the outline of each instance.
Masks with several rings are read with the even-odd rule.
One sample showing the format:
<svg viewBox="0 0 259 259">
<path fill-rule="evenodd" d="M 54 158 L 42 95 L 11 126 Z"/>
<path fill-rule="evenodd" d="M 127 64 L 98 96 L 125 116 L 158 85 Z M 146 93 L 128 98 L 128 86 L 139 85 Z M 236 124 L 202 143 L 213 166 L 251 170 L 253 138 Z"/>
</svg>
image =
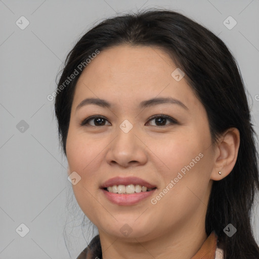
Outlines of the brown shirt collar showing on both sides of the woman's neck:
<svg viewBox="0 0 259 259">
<path fill-rule="evenodd" d="M 210 233 L 207 239 L 203 242 L 200 249 L 191 259 L 215 259 L 218 255 L 217 248 L 218 236 L 214 231 Z M 216 253 L 217 250 L 217 253 Z M 216 257 L 215 257 L 216 256 Z M 97 258 L 96 258 L 97 257 Z M 102 249 L 99 235 L 95 236 L 91 243 L 85 248 L 76 259 L 101 259 Z M 219 257 L 220 258 L 220 257 Z"/>
</svg>

